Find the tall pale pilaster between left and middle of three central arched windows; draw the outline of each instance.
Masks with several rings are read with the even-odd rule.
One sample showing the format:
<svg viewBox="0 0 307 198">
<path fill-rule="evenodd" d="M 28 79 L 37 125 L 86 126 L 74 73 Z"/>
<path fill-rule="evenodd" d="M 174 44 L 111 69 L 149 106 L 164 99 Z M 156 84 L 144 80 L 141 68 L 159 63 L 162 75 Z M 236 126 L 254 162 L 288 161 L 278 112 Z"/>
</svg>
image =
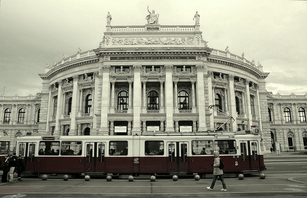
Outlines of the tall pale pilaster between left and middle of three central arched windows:
<svg viewBox="0 0 307 198">
<path fill-rule="evenodd" d="M 133 84 L 133 128 L 131 133 L 141 134 L 140 114 L 141 114 L 141 69 L 142 65 L 133 65 L 134 68 L 134 84 Z"/>
</svg>

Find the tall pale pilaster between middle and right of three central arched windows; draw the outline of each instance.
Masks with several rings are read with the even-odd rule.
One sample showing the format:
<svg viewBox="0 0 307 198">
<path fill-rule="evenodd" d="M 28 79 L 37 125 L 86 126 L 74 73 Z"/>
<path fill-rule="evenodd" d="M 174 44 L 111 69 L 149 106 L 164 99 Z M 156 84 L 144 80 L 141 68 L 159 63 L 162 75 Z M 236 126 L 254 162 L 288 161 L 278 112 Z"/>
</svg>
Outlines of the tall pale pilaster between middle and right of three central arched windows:
<svg viewBox="0 0 307 198">
<path fill-rule="evenodd" d="M 167 90 L 167 94 L 165 94 L 165 109 L 166 109 L 165 132 L 174 132 L 174 126 L 173 126 L 174 98 L 173 98 L 173 80 L 172 80 L 173 65 L 164 65 L 164 67 L 165 67 L 165 90 Z"/>
</svg>

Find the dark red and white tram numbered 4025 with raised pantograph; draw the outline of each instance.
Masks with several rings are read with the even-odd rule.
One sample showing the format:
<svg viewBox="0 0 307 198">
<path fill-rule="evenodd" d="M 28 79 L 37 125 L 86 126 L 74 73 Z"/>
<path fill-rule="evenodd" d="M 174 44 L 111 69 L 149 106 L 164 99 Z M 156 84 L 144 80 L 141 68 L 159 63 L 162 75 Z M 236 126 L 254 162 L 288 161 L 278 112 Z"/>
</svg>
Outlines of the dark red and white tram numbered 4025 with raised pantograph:
<svg viewBox="0 0 307 198">
<path fill-rule="evenodd" d="M 17 155 L 34 174 L 212 174 L 213 151 L 226 173 L 265 170 L 260 135 L 253 131 L 212 135 L 37 136 L 17 138 Z M 143 133 L 144 134 L 144 133 Z M 170 134 L 170 133 L 169 133 Z M 175 134 L 175 133 L 172 133 Z"/>
</svg>

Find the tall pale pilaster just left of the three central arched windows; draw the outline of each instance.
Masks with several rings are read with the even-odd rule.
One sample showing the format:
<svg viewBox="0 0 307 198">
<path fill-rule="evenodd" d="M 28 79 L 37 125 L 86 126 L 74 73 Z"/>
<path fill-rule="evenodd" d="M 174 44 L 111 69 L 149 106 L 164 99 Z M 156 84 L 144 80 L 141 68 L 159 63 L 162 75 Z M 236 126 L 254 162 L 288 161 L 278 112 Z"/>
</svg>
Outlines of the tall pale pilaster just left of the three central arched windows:
<svg viewBox="0 0 307 198">
<path fill-rule="evenodd" d="M 108 120 L 108 110 L 110 101 L 110 65 L 103 65 L 103 62 L 99 62 L 99 67 L 103 71 L 103 82 L 102 82 L 102 96 L 101 96 L 101 120 L 100 128 L 98 131 L 99 135 L 109 135 L 109 120 Z"/>
</svg>

